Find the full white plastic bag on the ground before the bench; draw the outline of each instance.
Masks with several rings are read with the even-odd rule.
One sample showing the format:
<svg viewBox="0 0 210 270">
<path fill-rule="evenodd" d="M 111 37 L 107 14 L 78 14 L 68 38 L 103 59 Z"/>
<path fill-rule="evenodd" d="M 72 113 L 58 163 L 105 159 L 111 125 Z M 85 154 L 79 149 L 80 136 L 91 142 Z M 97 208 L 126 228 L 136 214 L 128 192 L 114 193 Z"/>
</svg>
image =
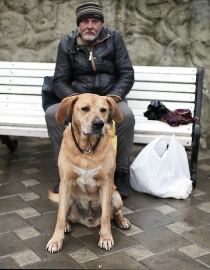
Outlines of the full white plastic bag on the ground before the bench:
<svg viewBox="0 0 210 270">
<path fill-rule="evenodd" d="M 151 195 L 186 199 L 192 191 L 189 164 L 184 147 L 173 135 L 167 149 L 165 136 L 151 141 L 130 166 L 134 190 Z"/>
</svg>

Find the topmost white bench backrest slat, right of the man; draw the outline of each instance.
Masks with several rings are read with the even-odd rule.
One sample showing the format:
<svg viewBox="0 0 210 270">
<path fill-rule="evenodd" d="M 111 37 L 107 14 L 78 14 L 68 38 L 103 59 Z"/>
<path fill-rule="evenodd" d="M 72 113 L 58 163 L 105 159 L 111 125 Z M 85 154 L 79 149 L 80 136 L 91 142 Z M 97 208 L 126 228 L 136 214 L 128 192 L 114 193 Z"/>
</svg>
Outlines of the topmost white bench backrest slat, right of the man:
<svg viewBox="0 0 210 270">
<path fill-rule="evenodd" d="M 191 67 L 153 67 L 133 66 L 134 72 L 196 75 L 197 69 Z"/>
</svg>

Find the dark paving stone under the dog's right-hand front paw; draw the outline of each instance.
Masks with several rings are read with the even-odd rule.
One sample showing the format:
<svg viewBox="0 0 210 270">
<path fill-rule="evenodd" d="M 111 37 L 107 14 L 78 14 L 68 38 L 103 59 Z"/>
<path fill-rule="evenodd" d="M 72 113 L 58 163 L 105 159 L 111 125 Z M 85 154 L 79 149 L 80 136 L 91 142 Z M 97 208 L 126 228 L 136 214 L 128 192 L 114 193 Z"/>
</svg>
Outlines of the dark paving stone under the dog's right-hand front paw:
<svg viewBox="0 0 210 270">
<path fill-rule="evenodd" d="M 82 236 L 79 238 L 79 240 L 82 243 L 84 243 L 87 247 L 89 247 L 90 250 L 95 252 L 97 255 L 106 255 L 106 254 L 115 252 L 117 250 L 120 250 L 122 248 L 130 247 L 130 246 L 138 244 L 135 240 L 131 239 L 130 237 L 127 237 L 121 234 L 116 228 L 112 229 L 112 236 L 113 236 L 115 245 L 110 250 L 105 250 L 98 246 L 98 242 L 99 242 L 98 233 Z"/>
</svg>

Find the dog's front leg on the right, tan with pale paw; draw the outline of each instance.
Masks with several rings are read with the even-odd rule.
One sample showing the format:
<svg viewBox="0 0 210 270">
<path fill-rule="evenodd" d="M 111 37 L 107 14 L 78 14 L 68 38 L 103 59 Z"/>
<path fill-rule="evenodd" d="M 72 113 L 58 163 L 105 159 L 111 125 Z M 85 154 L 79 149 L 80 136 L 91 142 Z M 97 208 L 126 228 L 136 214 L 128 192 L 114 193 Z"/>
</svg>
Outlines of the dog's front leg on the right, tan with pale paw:
<svg viewBox="0 0 210 270">
<path fill-rule="evenodd" d="M 101 200 L 101 230 L 100 239 L 98 245 L 101 248 L 110 250 L 114 246 L 114 240 L 111 233 L 111 223 L 110 223 L 110 203 L 111 203 L 111 185 L 110 183 L 104 181 L 105 183 L 100 187 L 99 194 Z"/>
</svg>

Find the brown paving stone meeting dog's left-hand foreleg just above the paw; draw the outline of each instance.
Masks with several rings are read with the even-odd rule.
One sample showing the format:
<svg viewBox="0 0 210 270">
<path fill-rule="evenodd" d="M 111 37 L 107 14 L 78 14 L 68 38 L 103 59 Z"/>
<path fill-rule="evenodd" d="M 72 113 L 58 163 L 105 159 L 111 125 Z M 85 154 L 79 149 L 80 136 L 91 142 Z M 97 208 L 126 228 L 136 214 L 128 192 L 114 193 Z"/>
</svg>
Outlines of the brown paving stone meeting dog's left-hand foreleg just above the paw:
<svg viewBox="0 0 210 270">
<path fill-rule="evenodd" d="M 27 219 L 35 228 L 44 234 L 51 235 L 55 231 L 57 214 L 50 213 L 41 216 L 35 216 Z"/>
</svg>

